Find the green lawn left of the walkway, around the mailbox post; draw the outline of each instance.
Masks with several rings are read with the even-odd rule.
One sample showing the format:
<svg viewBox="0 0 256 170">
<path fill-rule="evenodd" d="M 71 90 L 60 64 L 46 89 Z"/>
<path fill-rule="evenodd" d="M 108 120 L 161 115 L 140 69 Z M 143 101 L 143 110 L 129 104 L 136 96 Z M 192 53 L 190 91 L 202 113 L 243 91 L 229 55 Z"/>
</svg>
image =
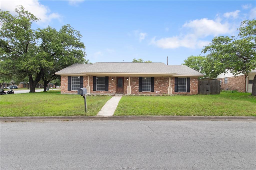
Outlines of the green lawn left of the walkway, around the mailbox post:
<svg viewBox="0 0 256 170">
<path fill-rule="evenodd" d="M 112 96 L 87 96 L 87 109 L 80 95 L 60 91 L 1 95 L 0 116 L 77 116 L 97 115 Z"/>
</svg>

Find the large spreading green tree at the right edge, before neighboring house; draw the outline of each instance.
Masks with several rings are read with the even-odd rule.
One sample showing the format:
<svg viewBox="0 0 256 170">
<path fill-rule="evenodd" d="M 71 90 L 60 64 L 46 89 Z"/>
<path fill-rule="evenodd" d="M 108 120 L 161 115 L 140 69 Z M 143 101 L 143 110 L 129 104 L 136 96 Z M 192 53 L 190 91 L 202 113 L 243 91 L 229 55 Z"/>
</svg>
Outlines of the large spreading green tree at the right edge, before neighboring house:
<svg viewBox="0 0 256 170">
<path fill-rule="evenodd" d="M 217 77 L 221 73 L 248 74 L 256 69 L 256 20 L 245 20 L 238 28 L 238 37 L 215 37 L 202 52 L 206 53 L 205 74 Z M 252 84 L 256 95 L 256 75 Z"/>
</svg>

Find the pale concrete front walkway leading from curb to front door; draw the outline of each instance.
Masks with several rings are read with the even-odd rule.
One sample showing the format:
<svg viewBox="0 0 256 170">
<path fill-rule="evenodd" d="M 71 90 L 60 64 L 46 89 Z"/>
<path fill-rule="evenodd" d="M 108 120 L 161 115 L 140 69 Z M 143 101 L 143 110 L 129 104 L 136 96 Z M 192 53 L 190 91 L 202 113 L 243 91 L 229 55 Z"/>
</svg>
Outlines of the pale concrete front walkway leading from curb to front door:
<svg viewBox="0 0 256 170">
<path fill-rule="evenodd" d="M 109 99 L 99 111 L 98 116 L 113 116 L 121 98 L 122 96 L 113 96 Z"/>
</svg>

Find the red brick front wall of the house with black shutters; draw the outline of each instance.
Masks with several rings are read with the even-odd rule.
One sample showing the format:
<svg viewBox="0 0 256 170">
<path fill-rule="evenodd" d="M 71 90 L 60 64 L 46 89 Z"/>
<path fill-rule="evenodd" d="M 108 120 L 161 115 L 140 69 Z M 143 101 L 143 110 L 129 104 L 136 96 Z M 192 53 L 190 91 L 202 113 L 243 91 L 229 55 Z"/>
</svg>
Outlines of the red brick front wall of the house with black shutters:
<svg viewBox="0 0 256 170">
<path fill-rule="evenodd" d="M 112 80 L 113 78 L 113 80 Z M 83 76 L 83 87 L 87 86 L 88 77 Z M 127 94 L 127 86 L 129 80 L 124 77 L 124 94 Z M 109 76 L 109 91 L 93 91 L 93 76 L 89 80 L 90 93 L 92 94 L 113 94 L 116 93 L 116 77 Z M 153 94 L 163 95 L 168 94 L 169 77 L 155 77 L 154 92 L 139 92 L 139 78 L 130 77 L 131 94 Z M 171 78 L 172 94 L 197 94 L 198 93 L 198 78 L 190 78 L 190 92 L 174 92 L 174 77 Z M 61 93 L 77 93 L 77 91 L 68 91 L 68 76 L 61 76 Z"/>
</svg>

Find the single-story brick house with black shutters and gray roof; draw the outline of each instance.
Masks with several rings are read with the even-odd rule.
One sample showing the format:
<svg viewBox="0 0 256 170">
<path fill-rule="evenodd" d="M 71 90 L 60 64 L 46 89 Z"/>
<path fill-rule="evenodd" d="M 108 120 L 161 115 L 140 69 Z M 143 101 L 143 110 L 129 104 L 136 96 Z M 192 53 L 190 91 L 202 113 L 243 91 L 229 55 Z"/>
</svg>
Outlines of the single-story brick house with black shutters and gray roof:
<svg viewBox="0 0 256 170">
<path fill-rule="evenodd" d="M 109 62 L 73 64 L 55 74 L 61 75 L 62 94 L 82 87 L 88 94 L 197 94 L 204 76 L 185 65 Z"/>
</svg>

